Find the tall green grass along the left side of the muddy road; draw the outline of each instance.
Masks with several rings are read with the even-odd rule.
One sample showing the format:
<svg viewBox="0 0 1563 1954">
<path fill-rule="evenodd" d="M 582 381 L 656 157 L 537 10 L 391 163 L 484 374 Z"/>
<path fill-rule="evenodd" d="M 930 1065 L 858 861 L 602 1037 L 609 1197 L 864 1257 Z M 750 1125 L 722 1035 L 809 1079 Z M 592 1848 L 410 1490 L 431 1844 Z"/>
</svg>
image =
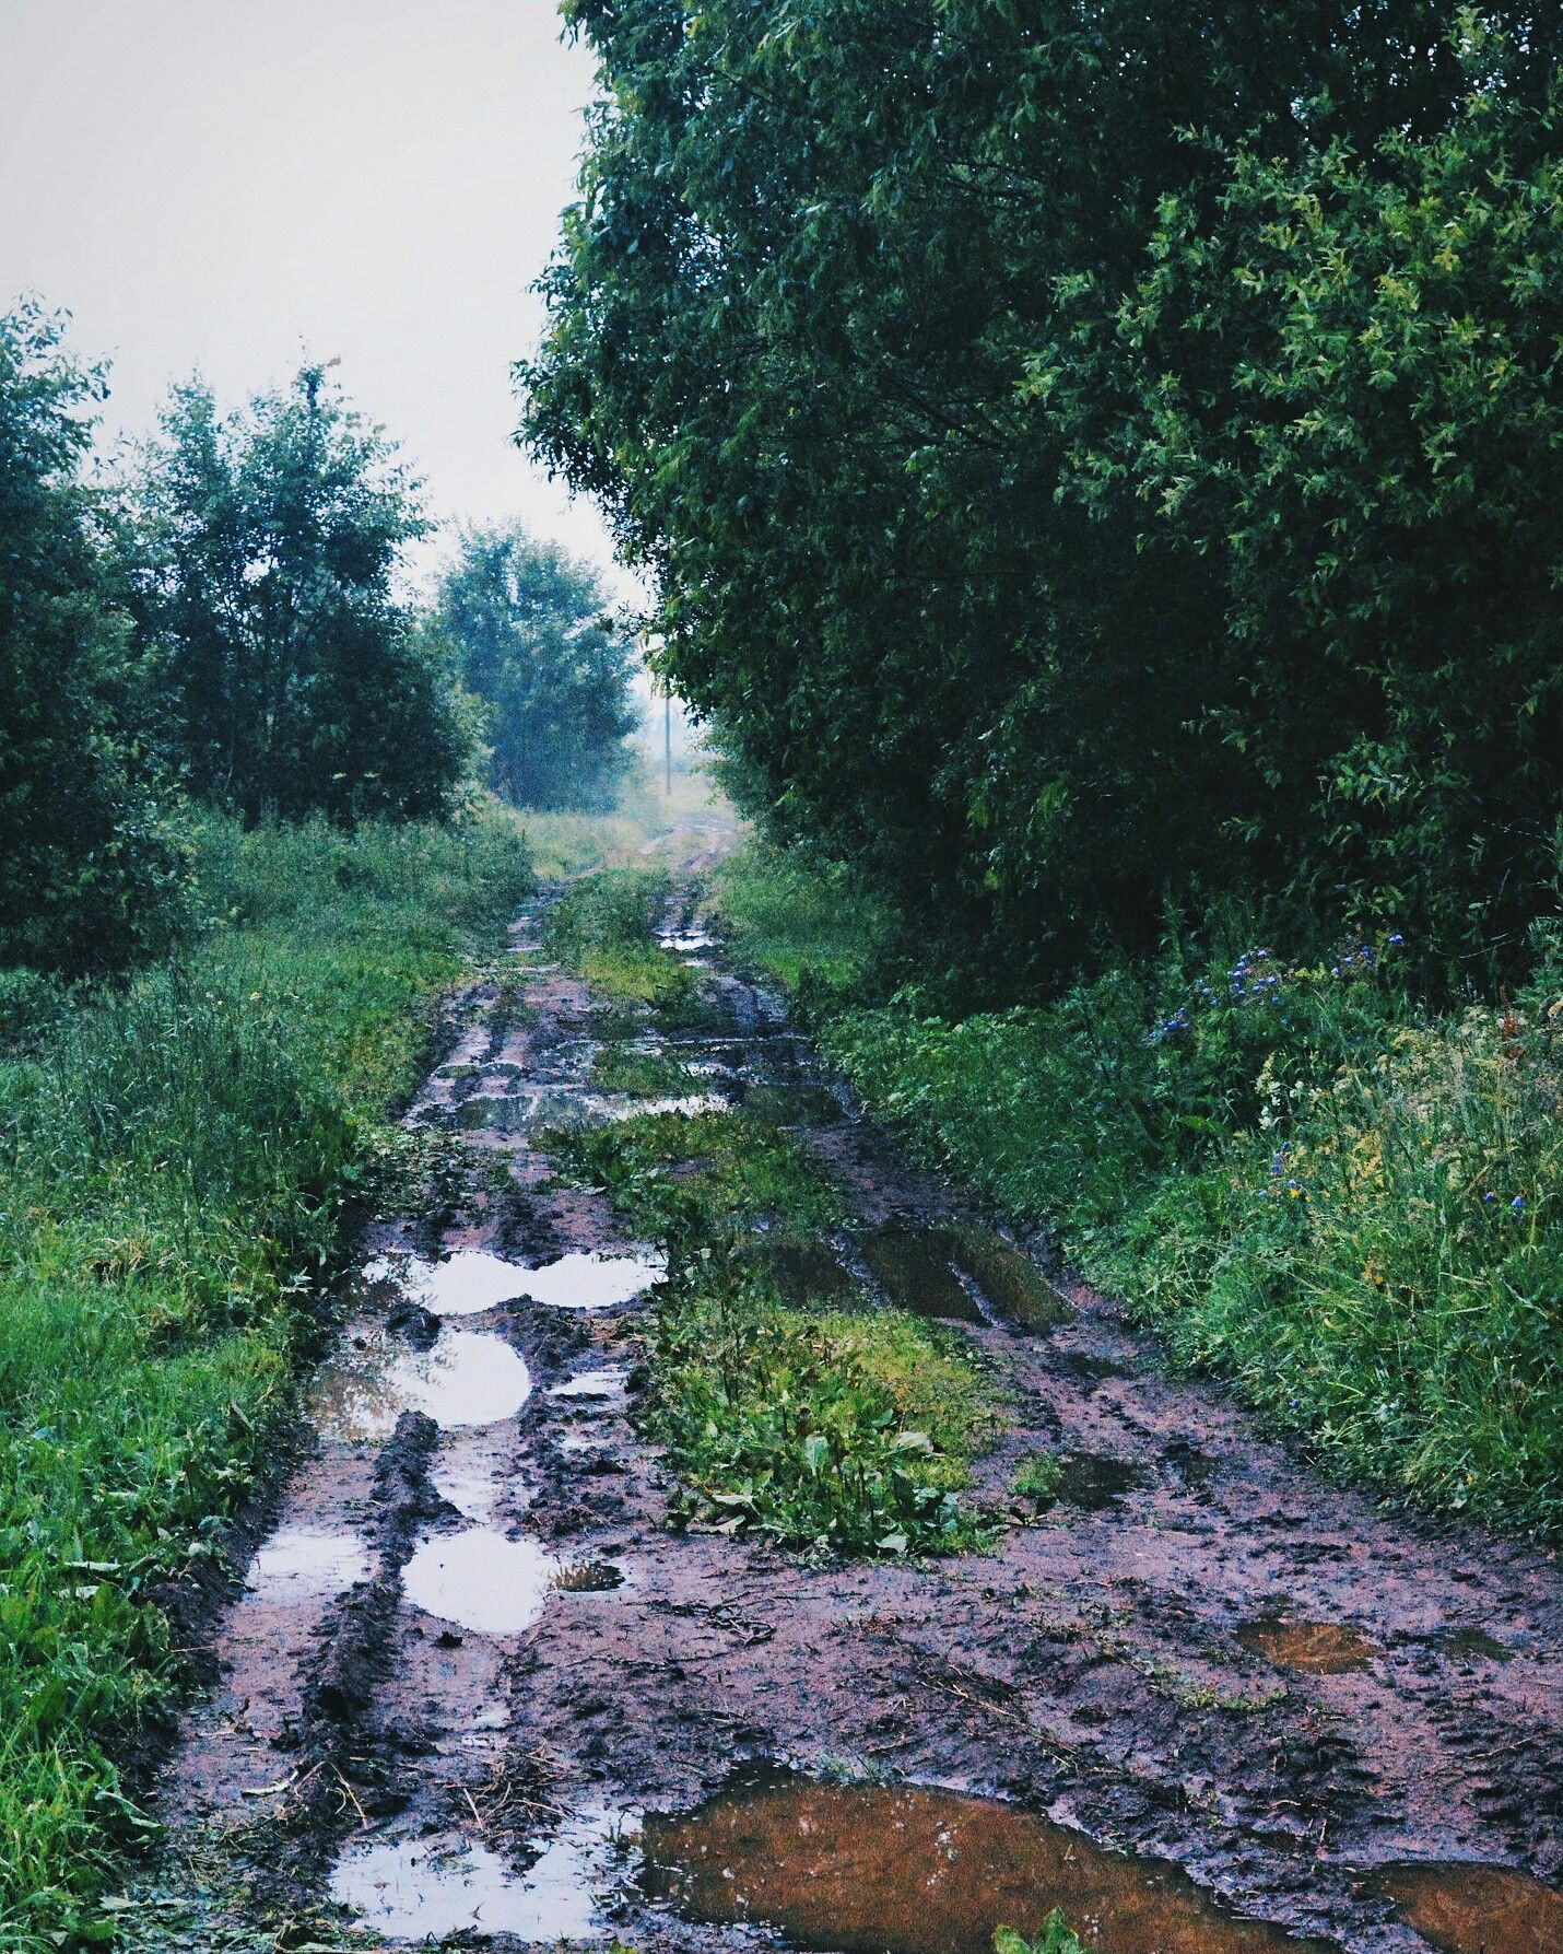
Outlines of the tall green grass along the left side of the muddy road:
<svg viewBox="0 0 1563 1954">
<path fill-rule="evenodd" d="M 104 1936 L 119 1761 L 291 1401 L 430 1000 L 529 885 L 518 825 L 195 836 L 199 942 L 123 991 L 16 979 L 0 1055 L 0 1944 Z M 64 1936 L 64 1938 L 61 1938 Z"/>
</svg>

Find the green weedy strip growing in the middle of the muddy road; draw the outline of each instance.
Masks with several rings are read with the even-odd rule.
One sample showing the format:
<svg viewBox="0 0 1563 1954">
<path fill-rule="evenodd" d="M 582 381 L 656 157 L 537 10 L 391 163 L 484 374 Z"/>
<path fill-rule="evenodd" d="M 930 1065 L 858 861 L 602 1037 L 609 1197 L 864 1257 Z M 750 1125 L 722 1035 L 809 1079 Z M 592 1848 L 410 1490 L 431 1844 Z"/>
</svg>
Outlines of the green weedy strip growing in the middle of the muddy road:
<svg viewBox="0 0 1563 1954">
<path fill-rule="evenodd" d="M 783 1292 L 754 1253 L 770 1233 L 844 1219 L 807 1149 L 742 1112 L 625 1120 L 549 1147 L 668 1249 L 643 1419 L 682 1481 L 686 1524 L 805 1551 L 987 1540 L 959 1493 L 994 1413 L 961 1338 L 899 1309 L 842 1307 L 838 1286 Z"/>
</svg>

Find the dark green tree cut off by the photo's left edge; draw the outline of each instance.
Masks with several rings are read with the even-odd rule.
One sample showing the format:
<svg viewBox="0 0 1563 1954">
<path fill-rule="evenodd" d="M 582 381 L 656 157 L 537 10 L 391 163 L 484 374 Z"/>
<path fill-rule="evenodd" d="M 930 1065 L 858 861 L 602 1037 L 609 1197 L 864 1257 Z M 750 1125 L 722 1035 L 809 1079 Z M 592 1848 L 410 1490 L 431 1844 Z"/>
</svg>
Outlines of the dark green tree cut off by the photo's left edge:
<svg viewBox="0 0 1563 1954">
<path fill-rule="evenodd" d="M 113 709 L 131 621 L 80 479 L 104 381 L 61 336 L 0 317 L 0 963 L 78 975 L 170 938 L 184 854 Z"/>
</svg>

